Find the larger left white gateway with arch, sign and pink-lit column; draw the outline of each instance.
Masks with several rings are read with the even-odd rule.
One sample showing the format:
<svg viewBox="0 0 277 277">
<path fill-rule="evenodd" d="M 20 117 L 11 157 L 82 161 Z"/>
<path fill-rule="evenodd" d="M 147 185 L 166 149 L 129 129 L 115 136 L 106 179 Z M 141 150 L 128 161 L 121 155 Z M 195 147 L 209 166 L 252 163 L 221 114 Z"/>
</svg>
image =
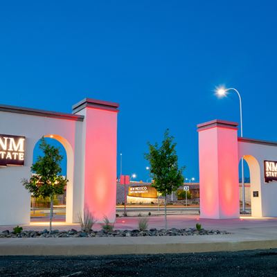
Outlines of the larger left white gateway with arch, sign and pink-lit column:
<svg viewBox="0 0 277 277">
<path fill-rule="evenodd" d="M 72 114 L 0 105 L 0 225 L 30 222 L 30 177 L 35 143 L 60 141 L 67 155 L 66 222 L 90 211 L 96 220 L 116 218 L 118 104 L 85 98 Z"/>
</svg>

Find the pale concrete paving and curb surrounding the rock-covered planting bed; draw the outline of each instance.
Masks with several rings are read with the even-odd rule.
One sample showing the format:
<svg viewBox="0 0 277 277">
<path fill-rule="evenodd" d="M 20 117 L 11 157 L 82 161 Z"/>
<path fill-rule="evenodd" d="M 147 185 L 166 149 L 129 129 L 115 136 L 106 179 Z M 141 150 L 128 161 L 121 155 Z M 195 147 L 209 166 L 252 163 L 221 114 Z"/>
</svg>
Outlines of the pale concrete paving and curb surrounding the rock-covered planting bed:
<svg viewBox="0 0 277 277">
<path fill-rule="evenodd" d="M 115 229 L 136 229 L 137 217 L 118 218 Z M 192 235 L 138 238 L 1 238 L 0 255 L 79 256 L 148 253 L 190 253 L 239 251 L 277 248 L 277 218 L 241 217 L 235 220 L 203 220 L 193 215 L 168 217 L 169 228 L 193 227 L 229 231 L 230 235 Z M 59 222 L 56 222 L 60 224 Z M 161 229 L 163 217 L 150 217 L 149 228 Z M 11 229 L 12 226 L 1 226 Z M 48 224 L 24 226 L 24 230 L 41 230 Z M 57 225 L 55 229 L 80 229 L 78 224 Z M 93 229 L 100 229 L 96 224 Z"/>
</svg>

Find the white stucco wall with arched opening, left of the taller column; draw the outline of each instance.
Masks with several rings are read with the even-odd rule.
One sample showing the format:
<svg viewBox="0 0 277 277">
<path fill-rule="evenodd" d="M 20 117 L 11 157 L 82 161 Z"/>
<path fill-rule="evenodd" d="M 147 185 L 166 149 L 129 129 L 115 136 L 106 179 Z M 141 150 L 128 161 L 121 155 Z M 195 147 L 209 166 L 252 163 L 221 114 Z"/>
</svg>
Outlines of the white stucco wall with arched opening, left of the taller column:
<svg viewBox="0 0 277 277">
<path fill-rule="evenodd" d="M 17 136 L 26 136 L 26 152 L 24 166 L 8 166 L 0 168 L 0 224 L 28 224 L 30 222 L 30 194 L 22 186 L 21 179 L 30 178 L 30 166 L 33 164 L 33 150 L 42 136 L 53 134 L 66 149 L 67 154 L 67 205 L 66 221 L 73 221 L 73 208 L 82 207 L 80 195 L 73 190 L 73 166 L 81 163 L 80 155 L 73 155 L 80 148 L 81 138 L 75 137 L 82 122 L 47 118 L 28 114 L 16 114 L 0 111 L 0 133 Z M 77 151 L 78 152 L 78 151 Z M 75 170 L 78 172 L 78 170 Z M 78 175 L 75 176 L 78 179 Z M 78 184 L 78 183 L 75 183 Z"/>
</svg>

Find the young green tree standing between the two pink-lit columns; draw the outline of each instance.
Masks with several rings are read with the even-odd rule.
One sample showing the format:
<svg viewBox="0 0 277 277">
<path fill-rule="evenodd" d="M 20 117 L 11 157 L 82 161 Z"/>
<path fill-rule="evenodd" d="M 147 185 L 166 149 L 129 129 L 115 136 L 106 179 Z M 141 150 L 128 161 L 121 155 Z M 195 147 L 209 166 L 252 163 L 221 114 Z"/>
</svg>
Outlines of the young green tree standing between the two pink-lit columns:
<svg viewBox="0 0 277 277">
<path fill-rule="evenodd" d="M 184 167 L 178 168 L 176 143 L 173 143 L 173 140 L 174 137 L 169 135 L 169 130 L 167 129 L 161 147 L 159 147 L 158 143 L 154 145 L 148 143 L 149 153 L 145 154 L 145 159 L 150 163 L 150 172 L 154 179 L 152 186 L 165 197 L 166 229 L 168 229 L 166 196 L 184 184 L 182 175 Z"/>
</svg>

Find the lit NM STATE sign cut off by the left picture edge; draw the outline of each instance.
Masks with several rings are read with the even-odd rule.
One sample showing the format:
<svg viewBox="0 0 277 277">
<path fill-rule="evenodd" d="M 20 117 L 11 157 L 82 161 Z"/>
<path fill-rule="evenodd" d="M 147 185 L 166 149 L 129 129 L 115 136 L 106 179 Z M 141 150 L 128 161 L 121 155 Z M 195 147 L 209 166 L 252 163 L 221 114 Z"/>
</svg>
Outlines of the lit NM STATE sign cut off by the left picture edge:
<svg viewBox="0 0 277 277">
<path fill-rule="evenodd" d="M 0 166 L 24 166 L 25 136 L 0 134 Z"/>
</svg>

